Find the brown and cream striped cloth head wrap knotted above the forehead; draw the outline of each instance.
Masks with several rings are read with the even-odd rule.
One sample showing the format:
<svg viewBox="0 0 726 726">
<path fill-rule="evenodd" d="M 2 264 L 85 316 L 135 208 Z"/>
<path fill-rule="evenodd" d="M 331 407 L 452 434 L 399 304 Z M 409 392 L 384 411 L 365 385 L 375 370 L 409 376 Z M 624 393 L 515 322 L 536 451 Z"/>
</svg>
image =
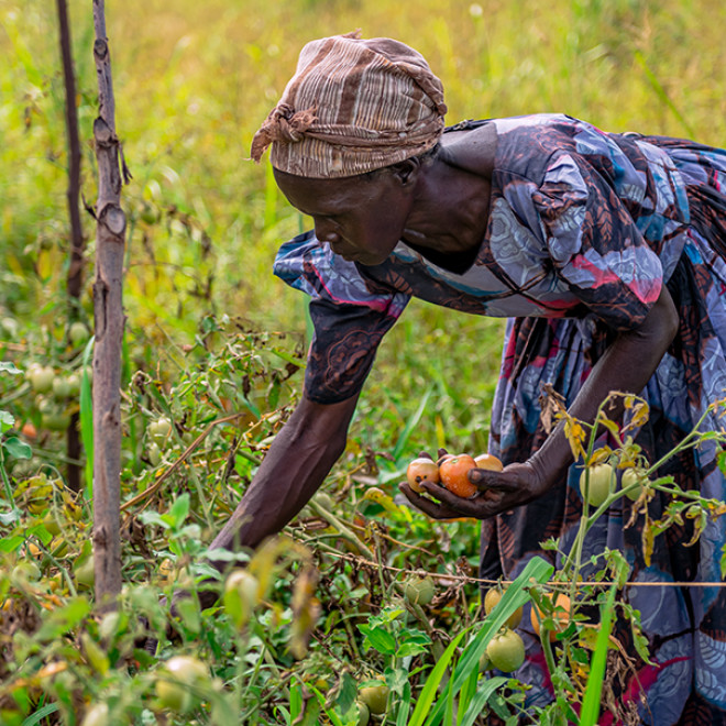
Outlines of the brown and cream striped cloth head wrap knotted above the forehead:
<svg viewBox="0 0 726 726">
<path fill-rule="evenodd" d="M 308 43 L 277 106 L 252 140 L 260 162 L 297 176 L 353 176 L 431 148 L 443 132 L 443 86 L 424 56 L 358 33 Z"/>
</svg>

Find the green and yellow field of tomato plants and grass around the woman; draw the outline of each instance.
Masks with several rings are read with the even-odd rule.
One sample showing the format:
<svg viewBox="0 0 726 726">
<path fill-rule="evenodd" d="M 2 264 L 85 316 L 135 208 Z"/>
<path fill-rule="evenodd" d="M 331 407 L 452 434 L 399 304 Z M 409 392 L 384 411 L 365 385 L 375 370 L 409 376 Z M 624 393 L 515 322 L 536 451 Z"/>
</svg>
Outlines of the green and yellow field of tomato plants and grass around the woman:
<svg viewBox="0 0 726 726">
<path fill-rule="evenodd" d="M 90 206 L 92 16 L 88 2 L 70 0 L 69 11 Z M 65 429 L 85 414 L 95 228 L 85 213 L 86 284 L 69 312 L 55 4 L 0 0 L 0 361 L 9 364 L 0 367 L 0 420 L 12 418 L 0 436 L 19 432 L 32 450 L 26 458 L 25 448 L 0 447 L 2 512 L 14 510 L 12 499 L 22 514 L 0 524 L 0 723 L 350 726 L 366 723 L 356 689 L 380 678 L 391 697 L 371 723 L 488 723 L 492 713 L 515 723 L 526 691 L 491 671 L 480 678 L 480 656 L 519 604 L 547 591 L 531 595 L 518 583 L 485 622 L 471 579 L 477 525 L 432 524 L 395 498 L 419 450 L 486 449 L 503 321 L 409 305 L 382 345 L 324 494 L 248 563 L 253 595 L 229 588 L 218 607 L 193 601 L 176 616 L 160 604 L 208 574 L 198 564 L 206 546 L 301 386 L 306 299 L 271 267 L 309 220 L 278 194 L 266 160 L 248 160 L 250 142 L 302 44 L 360 28 L 427 57 L 447 89 L 449 123 L 558 111 L 610 131 L 723 146 L 724 3 L 128 0 L 106 12 L 133 179 L 122 193 L 127 587 L 119 613 L 100 619 L 87 566 L 89 477 L 78 496 L 65 486 L 68 463 L 86 461 L 67 461 Z M 88 333 L 74 342 L 69 316 Z M 33 364 L 51 370 L 50 387 L 31 380 Z M 431 603 L 404 597 L 418 570 L 435 575 Z M 591 604 L 609 592 L 593 590 Z M 140 617 L 161 638 L 154 658 L 135 641 Z M 547 625 L 557 628 L 557 614 Z M 540 723 L 565 723 L 569 701 L 600 698 L 598 679 L 588 678 L 598 651 L 575 630 L 560 639 L 574 645 L 551 649 L 561 701 Z M 179 654 L 204 661 L 204 673 L 188 700 L 177 694 L 169 706 L 160 683 L 175 684 L 162 662 Z"/>
</svg>

